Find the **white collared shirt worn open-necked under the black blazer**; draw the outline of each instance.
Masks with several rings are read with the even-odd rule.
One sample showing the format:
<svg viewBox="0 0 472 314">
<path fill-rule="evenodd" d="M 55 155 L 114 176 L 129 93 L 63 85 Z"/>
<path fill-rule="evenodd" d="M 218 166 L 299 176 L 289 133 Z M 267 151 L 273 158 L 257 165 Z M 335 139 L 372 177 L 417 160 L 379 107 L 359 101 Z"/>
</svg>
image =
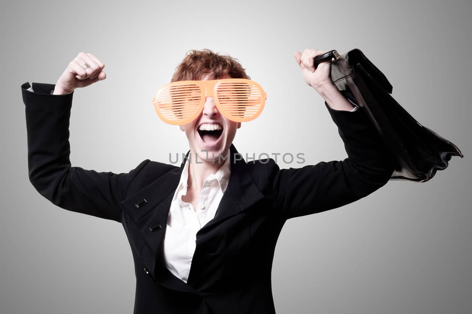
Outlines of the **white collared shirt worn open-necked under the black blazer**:
<svg viewBox="0 0 472 314">
<path fill-rule="evenodd" d="M 191 203 L 182 201 L 187 193 L 189 160 L 185 161 L 180 182 L 170 204 L 166 233 L 162 243 L 162 255 L 167 269 L 177 278 L 187 282 L 195 252 L 196 233 L 215 217 L 216 209 L 229 183 L 231 164 L 229 152 L 216 174 L 210 174 L 204 181 L 197 210 Z"/>
</svg>

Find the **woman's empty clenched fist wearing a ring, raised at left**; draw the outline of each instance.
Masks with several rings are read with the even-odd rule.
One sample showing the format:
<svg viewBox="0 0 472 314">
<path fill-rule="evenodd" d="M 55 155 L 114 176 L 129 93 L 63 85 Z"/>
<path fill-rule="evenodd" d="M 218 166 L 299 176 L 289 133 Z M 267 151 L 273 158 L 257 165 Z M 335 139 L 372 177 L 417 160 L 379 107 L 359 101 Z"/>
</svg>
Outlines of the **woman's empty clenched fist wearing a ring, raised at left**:
<svg viewBox="0 0 472 314">
<path fill-rule="evenodd" d="M 82 65 L 87 62 L 90 67 L 84 70 Z M 70 61 L 66 70 L 58 79 L 54 87 L 54 95 L 70 94 L 77 87 L 86 87 L 97 81 L 107 78 L 103 68 L 105 65 L 92 53 L 79 52 L 74 60 Z"/>
</svg>

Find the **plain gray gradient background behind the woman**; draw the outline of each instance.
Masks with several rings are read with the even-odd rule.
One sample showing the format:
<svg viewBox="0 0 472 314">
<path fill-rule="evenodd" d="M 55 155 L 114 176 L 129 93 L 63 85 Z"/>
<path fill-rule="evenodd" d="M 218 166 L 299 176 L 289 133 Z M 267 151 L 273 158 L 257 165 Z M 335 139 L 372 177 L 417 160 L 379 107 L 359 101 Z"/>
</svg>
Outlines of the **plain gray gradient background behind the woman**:
<svg viewBox="0 0 472 314">
<path fill-rule="evenodd" d="M 2 4 L 0 313 L 129 314 L 135 298 L 123 227 L 60 209 L 29 182 L 20 85 L 55 84 L 78 52 L 97 56 L 107 79 L 75 91 L 71 162 L 128 172 L 187 151 L 152 97 L 185 52 L 202 48 L 237 58 L 268 94 L 261 116 L 237 131 L 242 153 L 303 152 L 304 165 L 346 158 L 293 53 L 359 48 L 396 100 L 465 156 L 430 182 L 390 181 L 288 220 L 272 268 L 277 313 L 470 313 L 470 2 L 126 2 Z"/>
</svg>

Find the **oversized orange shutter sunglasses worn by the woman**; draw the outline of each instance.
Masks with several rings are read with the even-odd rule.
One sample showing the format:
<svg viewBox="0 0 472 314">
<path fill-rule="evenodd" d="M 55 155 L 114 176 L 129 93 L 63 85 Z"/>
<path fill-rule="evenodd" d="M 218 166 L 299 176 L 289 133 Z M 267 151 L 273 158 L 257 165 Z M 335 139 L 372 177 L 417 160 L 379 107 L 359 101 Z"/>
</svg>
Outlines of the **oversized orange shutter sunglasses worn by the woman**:
<svg viewBox="0 0 472 314">
<path fill-rule="evenodd" d="M 267 94 L 259 84 L 245 78 L 178 81 L 160 87 L 152 103 L 162 121 L 182 125 L 202 113 L 206 97 L 213 97 L 228 120 L 247 122 L 261 114 Z"/>
</svg>

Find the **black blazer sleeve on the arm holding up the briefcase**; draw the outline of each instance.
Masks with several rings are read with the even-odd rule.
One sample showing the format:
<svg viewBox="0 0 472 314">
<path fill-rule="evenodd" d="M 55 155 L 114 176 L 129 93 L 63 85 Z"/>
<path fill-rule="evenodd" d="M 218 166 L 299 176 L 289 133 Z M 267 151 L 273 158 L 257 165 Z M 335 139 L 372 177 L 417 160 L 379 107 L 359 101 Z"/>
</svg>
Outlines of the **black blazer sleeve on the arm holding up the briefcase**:
<svg viewBox="0 0 472 314">
<path fill-rule="evenodd" d="M 354 111 L 326 107 L 338 127 L 348 157 L 302 168 L 279 169 L 265 163 L 277 208 L 289 219 L 335 209 L 385 185 L 395 162 L 363 107 Z M 312 143 L 313 145 L 314 143 Z"/>
</svg>

